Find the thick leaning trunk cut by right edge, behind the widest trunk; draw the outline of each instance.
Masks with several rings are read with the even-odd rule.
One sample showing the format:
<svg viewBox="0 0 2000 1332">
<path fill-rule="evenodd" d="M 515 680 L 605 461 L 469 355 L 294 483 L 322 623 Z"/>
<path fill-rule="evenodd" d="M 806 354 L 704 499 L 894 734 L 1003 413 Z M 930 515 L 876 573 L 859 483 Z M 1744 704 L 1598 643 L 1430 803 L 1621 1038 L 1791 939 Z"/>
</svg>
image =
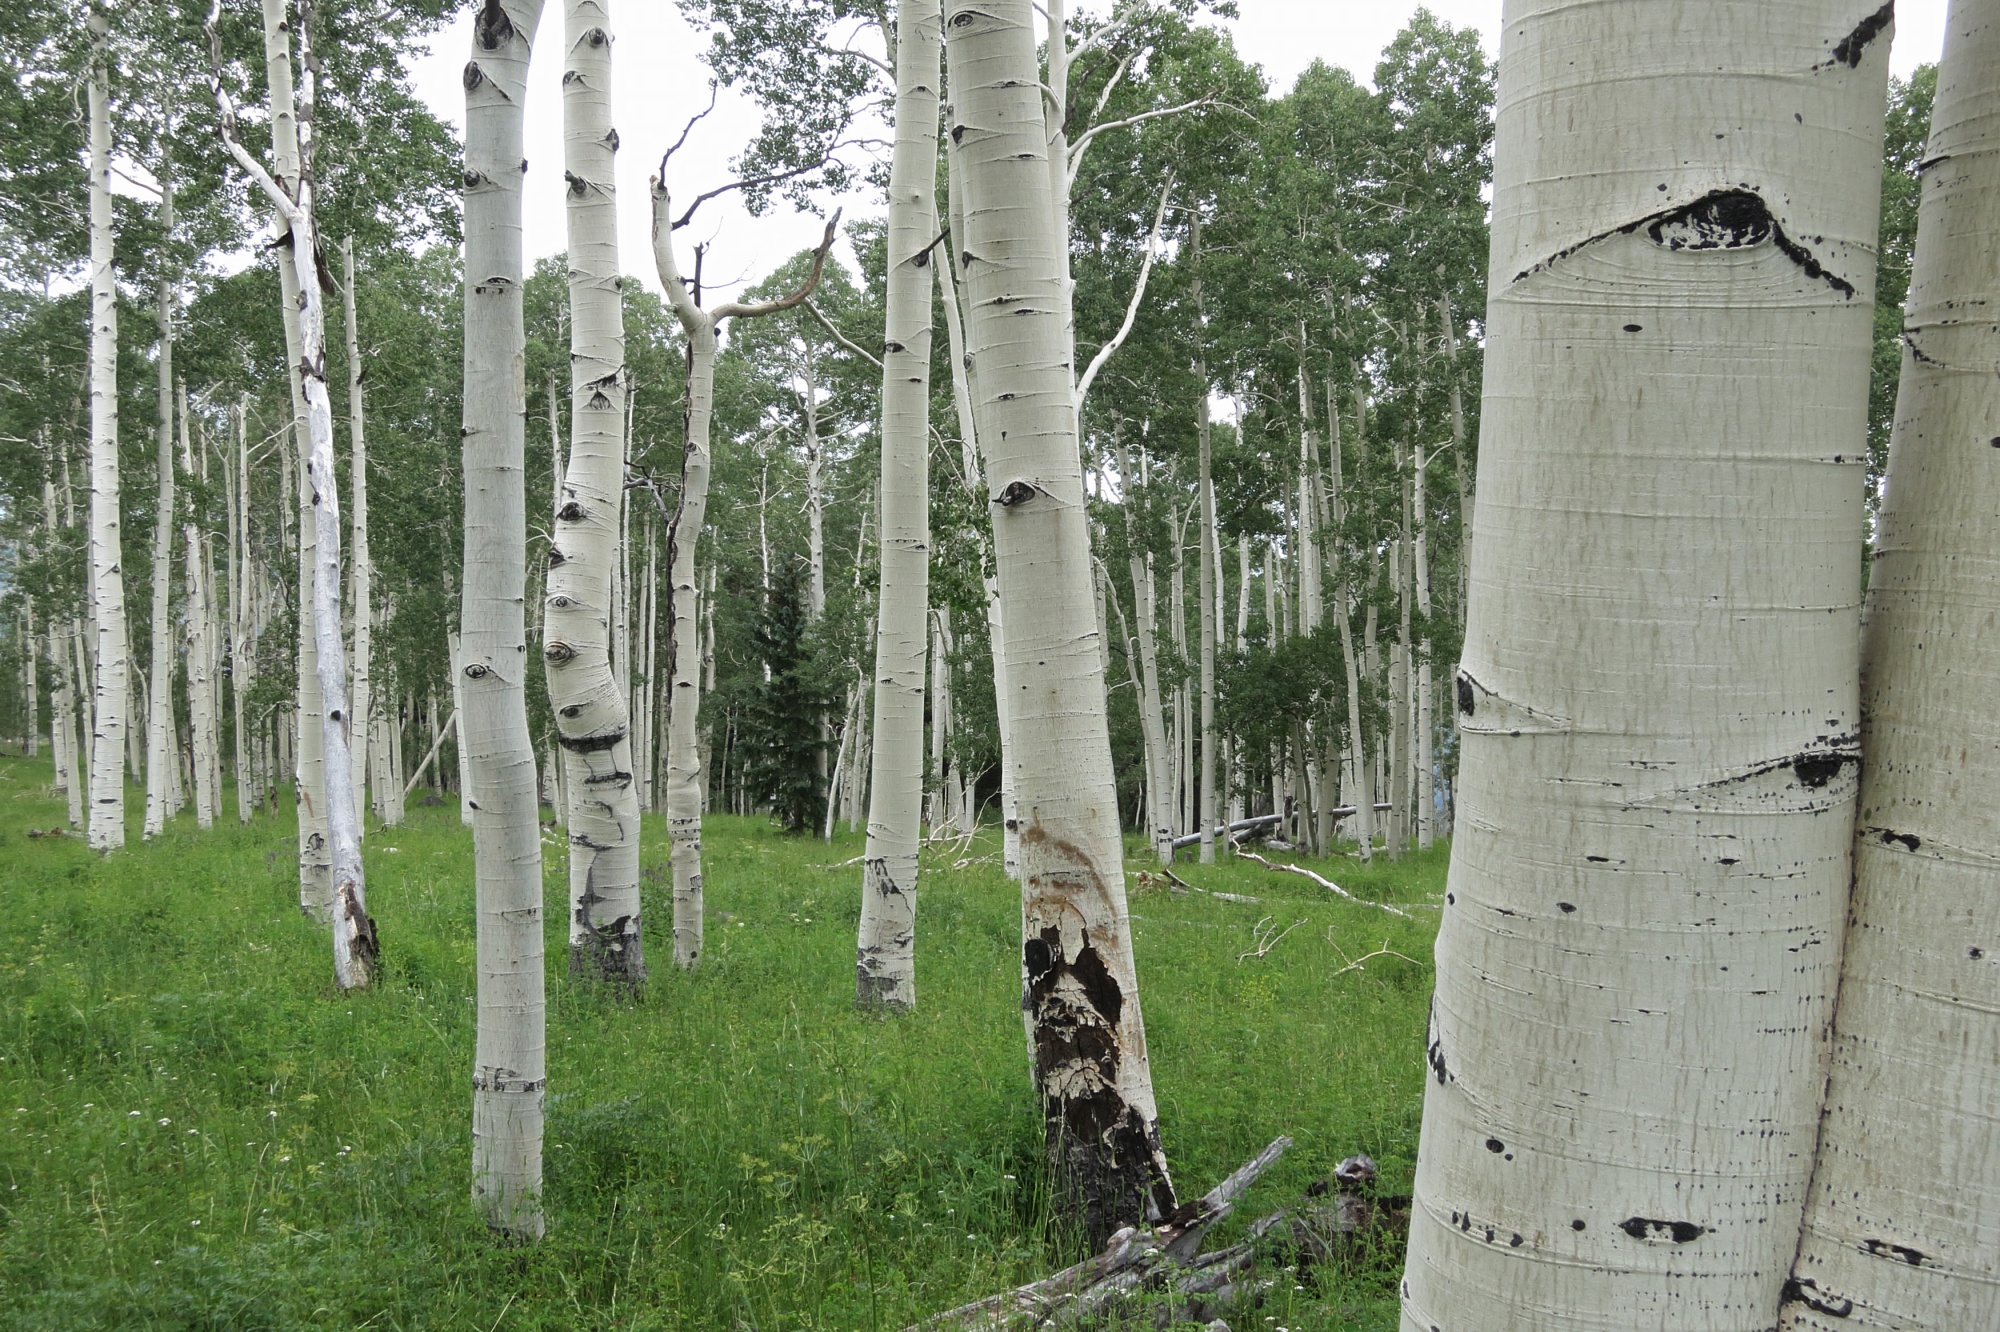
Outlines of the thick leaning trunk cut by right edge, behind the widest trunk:
<svg viewBox="0 0 2000 1332">
<path fill-rule="evenodd" d="M 1954 0 L 1930 124 L 1790 1332 L 2000 1326 L 2000 2 Z"/>
</svg>

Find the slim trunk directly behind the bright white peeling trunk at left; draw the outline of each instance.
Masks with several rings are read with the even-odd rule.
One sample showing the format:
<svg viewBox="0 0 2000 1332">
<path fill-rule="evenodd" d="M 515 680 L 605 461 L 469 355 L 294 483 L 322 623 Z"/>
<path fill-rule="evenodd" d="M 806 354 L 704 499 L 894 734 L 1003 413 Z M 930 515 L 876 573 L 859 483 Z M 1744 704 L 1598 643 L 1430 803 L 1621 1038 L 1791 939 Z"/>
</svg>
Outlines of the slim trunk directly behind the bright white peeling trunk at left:
<svg viewBox="0 0 2000 1332">
<path fill-rule="evenodd" d="M 272 176 L 280 182 L 296 182 L 302 172 L 298 142 L 298 108 L 292 96 L 292 36 L 284 0 L 264 0 L 264 68 L 270 92 L 270 146 Z M 276 210 L 280 234 L 288 228 L 284 210 Z M 284 316 L 284 344 L 292 366 L 304 358 L 304 332 L 300 326 L 300 266 L 298 250 L 292 244 L 274 248 L 278 260 L 278 288 Z M 314 258 L 308 254 L 308 268 Z M 322 740 L 322 698 L 318 670 L 318 642 L 314 636 L 314 578 L 318 570 L 316 524 L 312 522 L 312 490 L 306 478 L 312 452 L 306 422 L 304 384 L 296 374 L 286 376 L 292 386 L 292 426 L 298 446 L 298 710 L 294 716 L 292 768 L 298 782 L 298 908 L 318 920 L 332 918 L 334 864 L 326 808 L 326 750 Z M 288 458 L 290 464 L 290 458 Z"/>
</svg>

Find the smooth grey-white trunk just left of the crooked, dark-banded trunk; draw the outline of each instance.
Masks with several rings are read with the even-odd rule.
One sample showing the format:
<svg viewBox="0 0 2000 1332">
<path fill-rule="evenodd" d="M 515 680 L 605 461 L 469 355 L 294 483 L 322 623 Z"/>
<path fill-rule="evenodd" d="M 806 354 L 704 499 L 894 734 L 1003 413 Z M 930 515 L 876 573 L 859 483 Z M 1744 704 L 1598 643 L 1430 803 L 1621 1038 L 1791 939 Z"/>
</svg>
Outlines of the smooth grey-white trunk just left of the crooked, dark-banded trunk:
<svg viewBox="0 0 2000 1332">
<path fill-rule="evenodd" d="M 528 52 L 540 20 L 542 0 L 486 0 L 472 20 L 472 60 L 466 66 L 466 560 L 460 624 L 470 714 L 462 732 L 464 764 L 472 786 L 478 882 L 472 1202 L 486 1224 L 510 1240 L 538 1240 L 544 1232 L 542 1096 L 548 1082 L 542 832 L 526 688 L 528 498 L 522 468 L 528 390 L 522 380 L 526 324 L 520 254 L 522 120 Z M 572 262 L 576 258 L 572 246 Z"/>
</svg>

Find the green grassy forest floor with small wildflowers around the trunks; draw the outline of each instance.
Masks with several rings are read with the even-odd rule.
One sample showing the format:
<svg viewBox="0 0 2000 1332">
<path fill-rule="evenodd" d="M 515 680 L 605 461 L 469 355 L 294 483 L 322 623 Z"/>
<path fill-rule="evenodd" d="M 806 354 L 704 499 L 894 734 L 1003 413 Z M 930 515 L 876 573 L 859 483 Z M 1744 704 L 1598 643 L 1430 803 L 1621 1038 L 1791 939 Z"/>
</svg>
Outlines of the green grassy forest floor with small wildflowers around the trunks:
<svg viewBox="0 0 2000 1332">
<path fill-rule="evenodd" d="M 858 836 L 710 818 L 708 956 L 678 976 L 648 818 L 654 978 L 636 1004 L 562 978 L 548 844 L 550 1230 L 506 1250 L 468 1202 L 472 838 L 456 800 L 370 834 L 388 976 L 352 996 L 298 914 L 288 812 L 210 834 L 186 814 L 140 844 L 142 808 L 134 792 L 134 842 L 110 858 L 32 838 L 62 824 L 50 764 L 0 758 L 0 1328 L 850 1332 L 1080 1256 L 1046 1206 L 1020 904 L 992 862 L 926 864 L 920 1008 L 882 1020 L 852 1006 L 860 870 L 830 868 Z M 1442 848 L 1320 868 L 1364 896 L 1444 894 Z M 1182 1194 L 1278 1134 L 1298 1146 L 1218 1240 L 1352 1152 L 1408 1192 L 1436 912 L 1406 922 L 1240 862 L 1178 872 L 1258 898 L 1134 880 Z M 1300 926 L 1238 960 L 1266 916 Z M 1416 962 L 1346 970 L 1382 946 Z M 1400 1246 L 1382 1250 L 1232 1322 L 1394 1328 Z"/>
</svg>

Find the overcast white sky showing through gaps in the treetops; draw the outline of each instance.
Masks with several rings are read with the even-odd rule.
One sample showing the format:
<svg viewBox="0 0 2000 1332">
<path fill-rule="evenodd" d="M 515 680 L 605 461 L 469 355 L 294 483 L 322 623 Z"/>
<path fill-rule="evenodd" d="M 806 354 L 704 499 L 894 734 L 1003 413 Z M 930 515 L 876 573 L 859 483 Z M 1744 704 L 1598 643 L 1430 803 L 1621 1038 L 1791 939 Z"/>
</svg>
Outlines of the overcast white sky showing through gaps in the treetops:
<svg viewBox="0 0 2000 1332">
<path fill-rule="evenodd" d="M 1078 8 L 1108 8 L 1106 0 L 1076 0 Z M 1290 88 L 1298 72 L 1314 58 L 1352 70 L 1370 80 L 1382 48 L 1396 36 L 1416 4 L 1410 0 L 1238 0 L 1242 18 L 1234 24 L 1236 48 L 1264 66 L 1274 90 Z M 1908 74 L 1926 60 L 1936 60 L 1944 42 L 1946 0 L 1902 0 L 1896 6 L 1896 46 L 1892 68 Z M 1500 0 L 1430 0 L 1428 6 L 1446 22 L 1476 28 L 1494 50 L 1500 24 Z M 614 108 L 622 140 L 618 166 L 620 240 L 626 272 L 638 274 L 658 288 L 650 252 L 650 220 L 646 176 L 660 162 L 660 152 L 680 134 L 688 116 L 708 100 L 708 70 L 700 62 L 706 36 L 696 34 L 680 18 L 674 0 L 618 0 L 612 6 L 618 58 L 614 64 Z M 410 66 L 416 88 L 444 120 L 464 122 L 464 86 L 460 70 L 472 46 L 470 14 L 462 14 L 434 44 L 432 52 L 414 56 Z M 564 248 L 562 222 L 562 6 L 550 4 L 534 52 L 528 90 L 528 196 L 526 250 L 528 260 Z M 688 146 L 674 158 L 676 196 L 692 198 L 730 180 L 728 158 L 754 132 L 756 108 L 732 98 L 728 90 L 712 116 L 704 120 Z M 840 200 L 848 216 L 878 210 L 872 196 Z M 712 240 L 704 276 L 710 290 L 730 278 L 756 280 L 788 256 L 814 244 L 820 222 L 794 216 L 782 202 L 766 218 L 750 218 L 732 200 L 706 204 L 682 240 Z M 682 262 L 686 264 L 686 252 Z"/>
</svg>

